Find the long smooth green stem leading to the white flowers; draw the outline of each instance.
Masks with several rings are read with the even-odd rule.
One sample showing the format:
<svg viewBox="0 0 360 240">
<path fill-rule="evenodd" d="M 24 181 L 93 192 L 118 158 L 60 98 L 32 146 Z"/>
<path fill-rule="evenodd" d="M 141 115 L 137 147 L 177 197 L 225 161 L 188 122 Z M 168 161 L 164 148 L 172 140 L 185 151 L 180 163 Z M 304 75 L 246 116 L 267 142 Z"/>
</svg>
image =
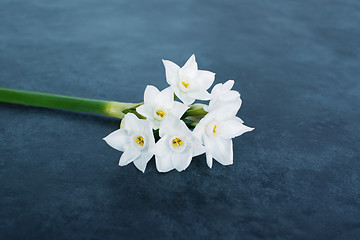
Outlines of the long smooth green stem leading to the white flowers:
<svg viewBox="0 0 360 240">
<path fill-rule="evenodd" d="M 124 111 L 135 109 L 142 103 L 122 103 L 88 98 L 69 97 L 58 94 L 0 88 L 0 102 L 70 111 L 98 113 L 123 118 Z"/>
</svg>

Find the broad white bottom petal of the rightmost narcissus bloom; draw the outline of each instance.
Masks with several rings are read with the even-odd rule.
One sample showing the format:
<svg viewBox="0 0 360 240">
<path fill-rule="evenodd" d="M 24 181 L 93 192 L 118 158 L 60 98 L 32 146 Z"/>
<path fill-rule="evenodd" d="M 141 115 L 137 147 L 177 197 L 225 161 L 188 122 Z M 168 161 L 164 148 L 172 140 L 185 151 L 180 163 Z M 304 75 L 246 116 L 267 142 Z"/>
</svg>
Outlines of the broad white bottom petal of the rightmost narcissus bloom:
<svg viewBox="0 0 360 240">
<path fill-rule="evenodd" d="M 233 163 L 232 140 L 223 138 L 205 138 L 205 146 L 213 158 L 222 165 Z"/>
</svg>

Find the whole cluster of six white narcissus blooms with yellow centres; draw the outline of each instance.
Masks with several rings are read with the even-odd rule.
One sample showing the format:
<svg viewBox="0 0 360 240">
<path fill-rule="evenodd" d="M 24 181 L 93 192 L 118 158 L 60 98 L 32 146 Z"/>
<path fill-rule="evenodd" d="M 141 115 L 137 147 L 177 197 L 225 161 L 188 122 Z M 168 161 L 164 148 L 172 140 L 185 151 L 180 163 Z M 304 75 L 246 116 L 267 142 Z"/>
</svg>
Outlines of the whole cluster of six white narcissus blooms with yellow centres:
<svg viewBox="0 0 360 240">
<path fill-rule="evenodd" d="M 195 55 L 183 67 L 168 60 L 163 64 L 170 86 L 162 91 L 147 86 L 144 104 L 129 111 L 120 129 L 104 138 L 111 147 L 124 152 L 119 165 L 133 162 L 144 172 L 155 155 L 159 172 L 183 171 L 193 157 L 203 153 L 210 168 L 213 159 L 232 164 L 232 138 L 254 129 L 236 116 L 241 99 L 231 90 L 234 81 L 217 84 L 209 93 L 215 73 L 199 70 Z M 193 104 L 196 100 L 209 100 L 209 105 Z M 160 139 L 155 142 L 156 138 Z"/>
</svg>

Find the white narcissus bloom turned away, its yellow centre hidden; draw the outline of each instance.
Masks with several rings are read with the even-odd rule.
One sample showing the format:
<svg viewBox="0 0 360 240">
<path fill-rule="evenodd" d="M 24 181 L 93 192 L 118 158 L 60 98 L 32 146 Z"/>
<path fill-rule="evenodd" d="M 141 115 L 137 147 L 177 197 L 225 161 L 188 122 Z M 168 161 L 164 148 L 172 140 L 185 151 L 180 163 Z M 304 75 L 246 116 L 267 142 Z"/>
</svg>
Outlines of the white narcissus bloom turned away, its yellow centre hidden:
<svg viewBox="0 0 360 240">
<path fill-rule="evenodd" d="M 231 90 L 234 86 L 234 80 L 228 80 L 224 84 L 218 83 L 211 90 L 211 99 L 209 106 L 205 106 L 204 110 L 207 112 L 213 111 L 216 108 L 220 108 L 227 103 L 236 103 L 241 106 L 240 93 L 235 90 Z"/>
</svg>

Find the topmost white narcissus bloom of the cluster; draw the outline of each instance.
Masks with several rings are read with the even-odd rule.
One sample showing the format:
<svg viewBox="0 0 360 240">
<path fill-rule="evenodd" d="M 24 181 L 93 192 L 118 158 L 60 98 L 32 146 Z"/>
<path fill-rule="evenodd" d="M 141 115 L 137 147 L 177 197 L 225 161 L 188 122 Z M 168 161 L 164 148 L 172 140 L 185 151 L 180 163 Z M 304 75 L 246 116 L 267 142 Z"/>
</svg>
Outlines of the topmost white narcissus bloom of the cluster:
<svg viewBox="0 0 360 240">
<path fill-rule="evenodd" d="M 213 84 L 215 73 L 198 70 L 195 55 L 192 55 L 182 68 L 168 60 L 163 60 L 163 63 L 166 81 L 183 103 L 190 105 L 196 99 L 210 99 L 207 89 Z"/>
</svg>

